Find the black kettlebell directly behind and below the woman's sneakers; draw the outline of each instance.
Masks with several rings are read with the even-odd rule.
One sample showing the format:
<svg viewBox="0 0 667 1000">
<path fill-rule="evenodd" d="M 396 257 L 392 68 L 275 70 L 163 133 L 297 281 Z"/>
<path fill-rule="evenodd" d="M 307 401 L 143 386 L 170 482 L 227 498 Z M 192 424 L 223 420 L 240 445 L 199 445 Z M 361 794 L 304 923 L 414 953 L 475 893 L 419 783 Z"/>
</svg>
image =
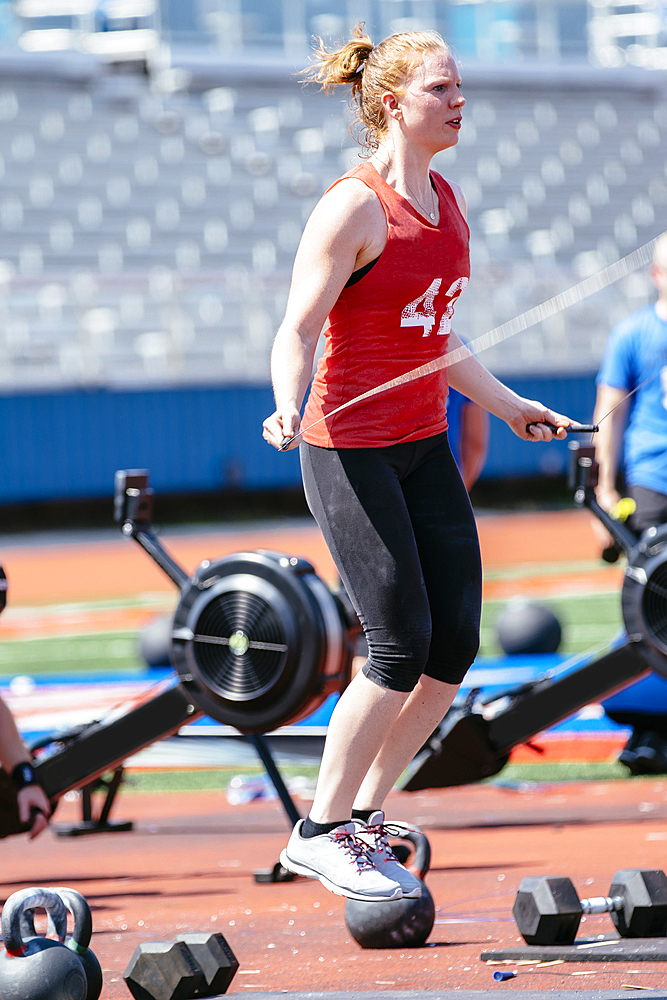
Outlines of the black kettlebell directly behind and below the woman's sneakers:
<svg viewBox="0 0 667 1000">
<path fill-rule="evenodd" d="M 418 948 L 433 930 L 435 903 L 424 878 L 431 864 L 431 845 L 417 827 L 405 828 L 401 840 L 414 845 L 410 871 L 422 882 L 419 899 L 390 899 L 386 902 L 345 902 L 345 923 L 362 948 Z"/>
</svg>

